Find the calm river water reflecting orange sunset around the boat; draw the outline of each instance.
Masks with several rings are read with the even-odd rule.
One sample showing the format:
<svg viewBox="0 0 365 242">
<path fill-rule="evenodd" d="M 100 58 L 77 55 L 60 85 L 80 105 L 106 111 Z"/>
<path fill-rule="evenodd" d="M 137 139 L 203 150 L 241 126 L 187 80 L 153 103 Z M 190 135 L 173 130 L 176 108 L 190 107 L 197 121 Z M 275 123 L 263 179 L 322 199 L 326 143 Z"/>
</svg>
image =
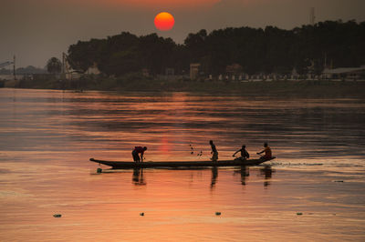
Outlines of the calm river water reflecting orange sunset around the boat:
<svg viewBox="0 0 365 242">
<path fill-rule="evenodd" d="M 363 99 L 3 88 L 0 104 L 1 241 L 365 239 Z M 264 142 L 277 158 L 100 175 L 89 162 L 133 146 L 207 160 L 209 139 L 221 159 Z"/>
</svg>

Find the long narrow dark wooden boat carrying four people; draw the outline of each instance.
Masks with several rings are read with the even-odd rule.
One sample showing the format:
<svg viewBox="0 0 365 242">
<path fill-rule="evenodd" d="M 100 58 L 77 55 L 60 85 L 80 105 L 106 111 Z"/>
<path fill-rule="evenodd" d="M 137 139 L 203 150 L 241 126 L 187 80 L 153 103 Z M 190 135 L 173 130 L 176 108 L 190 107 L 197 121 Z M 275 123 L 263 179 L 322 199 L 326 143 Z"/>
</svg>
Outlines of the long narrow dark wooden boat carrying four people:
<svg viewBox="0 0 365 242">
<path fill-rule="evenodd" d="M 275 159 L 247 159 L 247 160 L 218 160 L 213 161 L 166 161 L 166 162 L 128 162 L 128 161 L 108 161 L 90 158 L 90 161 L 111 166 L 113 169 L 125 168 L 148 168 L 148 167 L 209 167 L 209 166 L 257 166 L 266 161 Z"/>
</svg>

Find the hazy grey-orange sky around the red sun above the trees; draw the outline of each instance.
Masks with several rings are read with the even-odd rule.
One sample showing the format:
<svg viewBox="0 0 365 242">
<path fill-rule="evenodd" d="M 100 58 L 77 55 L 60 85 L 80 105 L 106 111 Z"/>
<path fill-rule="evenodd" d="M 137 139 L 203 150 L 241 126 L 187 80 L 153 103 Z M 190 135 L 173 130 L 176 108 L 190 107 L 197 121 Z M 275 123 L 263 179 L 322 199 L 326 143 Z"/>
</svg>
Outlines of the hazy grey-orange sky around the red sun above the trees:
<svg viewBox="0 0 365 242">
<path fill-rule="evenodd" d="M 316 21 L 365 21 L 364 0 L 0 0 L 0 63 L 16 55 L 17 66 L 45 66 L 78 40 L 104 38 L 129 31 L 158 33 L 178 43 L 189 33 L 227 26 L 291 29 Z M 175 17 L 169 32 L 159 32 L 154 16 Z"/>
</svg>

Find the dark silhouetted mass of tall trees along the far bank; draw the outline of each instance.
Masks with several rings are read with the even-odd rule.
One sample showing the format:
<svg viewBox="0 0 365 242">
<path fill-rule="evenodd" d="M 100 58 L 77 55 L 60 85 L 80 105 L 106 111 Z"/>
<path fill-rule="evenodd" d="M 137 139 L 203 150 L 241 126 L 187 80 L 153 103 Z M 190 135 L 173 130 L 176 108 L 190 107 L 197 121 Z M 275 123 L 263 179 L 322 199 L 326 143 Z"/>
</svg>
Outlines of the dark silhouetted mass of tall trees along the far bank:
<svg viewBox="0 0 365 242">
<path fill-rule="evenodd" d="M 191 63 L 200 63 L 205 75 L 227 72 L 240 66 L 243 73 L 319 74 L 327 66 L 365 65 L 365 22 L 325 21 L 292 30 L 228 27 L 207 33 L 189 34 L 183 45 L 156 34 L 132 35 L 123 32 L 105 39 L 78 41 L 68 48 L 68 62 L 86 71 L 96 64 L 107 76 L 123 76 L 146 68 L 151 75 L 174 68 L 176 74 L 189 72 Z M 308 67 L 310 66 L 310 67 Z"/>
</svg>

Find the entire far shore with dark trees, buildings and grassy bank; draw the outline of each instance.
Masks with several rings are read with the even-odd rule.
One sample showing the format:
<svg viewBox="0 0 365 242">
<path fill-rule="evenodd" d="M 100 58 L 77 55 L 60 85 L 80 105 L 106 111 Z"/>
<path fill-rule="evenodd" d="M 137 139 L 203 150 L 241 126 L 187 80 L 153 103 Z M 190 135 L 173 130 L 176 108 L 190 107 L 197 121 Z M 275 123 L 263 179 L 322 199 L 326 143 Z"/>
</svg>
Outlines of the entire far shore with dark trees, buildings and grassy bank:
<svg viewBox="0 0 365 242">
<path fill-rule="evenodd" d="M 325 21 L 292 30 L 227 27 L 189 34 L 183 44 L 156 34 L 69 45 L 48 74 L 0 87 L 245 96 L 365 96 L 365 22 Z M 330 71 L 334 72 L 330 72 Z"/>
</svg>

